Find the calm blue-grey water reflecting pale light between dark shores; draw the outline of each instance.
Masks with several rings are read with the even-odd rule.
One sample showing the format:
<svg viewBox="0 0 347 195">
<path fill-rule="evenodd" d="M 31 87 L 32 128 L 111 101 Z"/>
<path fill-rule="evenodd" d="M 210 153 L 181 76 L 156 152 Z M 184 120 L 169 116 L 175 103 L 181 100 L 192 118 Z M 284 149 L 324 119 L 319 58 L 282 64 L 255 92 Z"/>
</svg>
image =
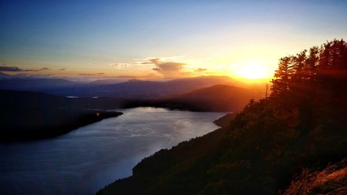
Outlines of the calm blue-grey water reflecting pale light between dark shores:
<svg viewBox="0 0 347 195">
<path fill-rule="evenodd" d="M 130 176 L 142 158 L 209 133 L 225 113 L 163 108 L 120 110 L 66 135 L 0 144 L 0 194 L 95 194 Z"/>
</svg>

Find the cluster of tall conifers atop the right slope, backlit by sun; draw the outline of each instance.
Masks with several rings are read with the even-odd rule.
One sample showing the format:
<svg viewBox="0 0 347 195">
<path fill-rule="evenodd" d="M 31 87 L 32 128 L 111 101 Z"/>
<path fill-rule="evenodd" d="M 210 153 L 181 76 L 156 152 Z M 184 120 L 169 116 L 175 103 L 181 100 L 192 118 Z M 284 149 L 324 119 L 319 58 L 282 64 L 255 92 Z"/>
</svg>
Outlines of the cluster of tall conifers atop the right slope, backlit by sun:
<svg viewBox="0 0 347 195">
<path fill-rule="evenodd" d="M 280 58 L 278 69 L 272 80 L 273 96 L 284 92 L 312 94 L 312 90 L 334 90 L 346 81 L 347 44 L 344 40 L 333 40 L 313 46 L 296 56 Z M 313 86 L 314 85 L 314 86 Z M 338 87 L 339 88 L 339 87 Z M 339 89 L 343 90 L 343 89 Z"/>
</svg>

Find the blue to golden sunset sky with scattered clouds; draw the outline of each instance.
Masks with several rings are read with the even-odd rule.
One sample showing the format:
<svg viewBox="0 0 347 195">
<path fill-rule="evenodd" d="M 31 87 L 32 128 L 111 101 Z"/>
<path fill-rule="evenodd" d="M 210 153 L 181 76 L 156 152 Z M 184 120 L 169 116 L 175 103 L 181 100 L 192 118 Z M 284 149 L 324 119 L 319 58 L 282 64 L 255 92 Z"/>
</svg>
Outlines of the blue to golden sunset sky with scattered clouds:
<svg viewBox="0 0 347 195">
<path fill-rule="evenodd" d="M 269 79 L 347 38 L 347 1 L 0 0 L 0 76 Z"/>
</svg>

